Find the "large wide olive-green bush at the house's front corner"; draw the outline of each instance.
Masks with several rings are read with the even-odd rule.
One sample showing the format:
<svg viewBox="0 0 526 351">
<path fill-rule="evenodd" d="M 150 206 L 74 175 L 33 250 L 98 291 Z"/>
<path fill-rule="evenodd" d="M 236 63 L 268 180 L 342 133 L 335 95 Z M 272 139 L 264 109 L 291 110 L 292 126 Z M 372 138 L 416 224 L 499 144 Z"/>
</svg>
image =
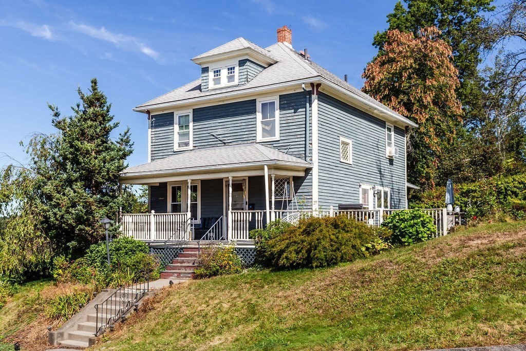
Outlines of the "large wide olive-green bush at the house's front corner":
<svg viewBox="0 0 526 351">
<path fill-rule="evenodd" d="M 376 238 L 375 229 L 346 216 L 300 219 L 267 240 L 267 259 L 279 268 L 327 267 L 367 256 Z"/>
</svg>

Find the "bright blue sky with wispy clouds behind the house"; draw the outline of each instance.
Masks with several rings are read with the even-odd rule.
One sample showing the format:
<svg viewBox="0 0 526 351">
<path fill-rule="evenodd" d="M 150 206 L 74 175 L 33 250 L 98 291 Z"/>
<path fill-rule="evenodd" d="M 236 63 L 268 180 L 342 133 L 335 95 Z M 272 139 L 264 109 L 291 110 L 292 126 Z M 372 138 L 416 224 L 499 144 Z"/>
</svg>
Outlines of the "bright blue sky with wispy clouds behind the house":
<svg viewBox="0 0 526 351">
<path fill-rule="evenodd" d="M 70 115 L 76 89 L 99 87 L 135 151 L 147 162 L 146 115 L 133 107 L 193 81 L 190 58 L 239 36 L 266 47 L 276 29 L 292 28 L 292 45 L 349 82 L 362 86 L 363 67 L 376 54 L 373 35 L 387 27 L 395 1 L 133 1 L 0 0 L 0 166 L 25 162 L 19 141 L 53 133 L 47 102 Z M 121 129 L 122 129 L 121 128 Z"/>
</svg>

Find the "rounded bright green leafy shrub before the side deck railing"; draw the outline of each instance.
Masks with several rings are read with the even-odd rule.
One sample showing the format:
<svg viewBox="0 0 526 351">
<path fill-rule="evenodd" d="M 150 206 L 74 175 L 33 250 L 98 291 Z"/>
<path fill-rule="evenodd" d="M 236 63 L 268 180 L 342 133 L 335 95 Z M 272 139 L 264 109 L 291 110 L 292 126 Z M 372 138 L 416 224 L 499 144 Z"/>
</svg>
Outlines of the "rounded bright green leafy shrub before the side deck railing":
<svg viewBox="0 0 526 351">
<path fill-rule="evenodd" d="M 433 237 L 437 227 L 426 213 L 419 209 L 404 209 L 395 211 L 382 223 L 391 230 L 389 242 L 393 245 L 412 245 Z"/>
</svg>

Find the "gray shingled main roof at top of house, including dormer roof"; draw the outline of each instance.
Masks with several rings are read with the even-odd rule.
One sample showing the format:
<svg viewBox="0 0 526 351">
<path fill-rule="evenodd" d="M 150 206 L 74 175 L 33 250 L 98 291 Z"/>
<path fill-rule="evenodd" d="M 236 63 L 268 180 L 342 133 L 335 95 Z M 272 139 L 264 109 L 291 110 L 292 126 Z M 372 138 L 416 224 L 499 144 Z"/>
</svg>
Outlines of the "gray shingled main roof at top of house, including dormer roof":
<svg viewBox="0 0 526 351">
<path fill-rule="evenodd" d="M 249 43 L 249 44 L 246 44 L 246 43 Z M 398 118 L 400 118 L 401 121 L 408 123 L 409 125 L 413 124 L 406 117 L 403 117 L 399 113 L 393 111 L 389 107 L 378 102 L 376 99 L 373 99 L 369 95 L 363 93 L 362 91 L 360 91 L 360 89 L 357 89 L 356 87 L 353 87 L 349 83 L 343 81 L 343 79 L 330 73 L 329 71 L 327 71 L 327 69 L 321 67 L 315 62 L 312 62 L 310 60 L 309 61 L 305 60 L 294 49 L 292 49 L 291 47 L 283 43 L 276 43 L 265 49 L 262 49 L 261 47 L 257 46 L 254 43 L 247 41 L 244 38 L 237 38 L 234 41 L 221 45 L 215 49 L 210 50 L 209 52 L 205 54 L 196 56 L 195 58 L 203 57 L 205 55 L 213 55 L 215 53 L 222 52 L 225 49 L 229 49 L 229 48 L 240 48 L 241 45 L 250 45 L 250 47 L 255 46 L 263 50 L 265 53 L 267 53 L 267 55 L 276 59 L 277 63 L 265 68 L 261 73 L 259 73 L 254 79 L 252 79 L 247 84 L 201 92 L 201 79 L 199 78 L 199 79 L 196 79 L 194 82 L 190 82 L 184 86 L 174 89 L 171 92 L 168 92 L 164 95 L 151 99 L 150 101 L 144 104 L 141 104 L 137 106 L 136 108 L 142 108 L 146 106 L 153 107 L 154 105 L 157 105 L 157 104 L 180 102 L 180 101 L 185 101 L 188 99 L 193 99 L 193 98 L 198 98 L 198 97 L 212 96 L 212 95 L 224 94 L 228 92 L 243 91 L 243 90 L 247 90 L 251 88 L 264 87 L 264 86 L 269 86 L 269 85 L 278 84 L 278 83 L 297 81 L 300 79 L 321 77 L 321 78 L 327 79 L 328 81 L 338 85 L 339 87 L 343 89 L 346 89 L 349 93 L 353 95 L 357 95 L 363 99 L 366 99 L 371 104 L 389 111 L 391 114 L 396 115 Z M 225 48 L 225 46 L 227 47 Z"/>
</svg>

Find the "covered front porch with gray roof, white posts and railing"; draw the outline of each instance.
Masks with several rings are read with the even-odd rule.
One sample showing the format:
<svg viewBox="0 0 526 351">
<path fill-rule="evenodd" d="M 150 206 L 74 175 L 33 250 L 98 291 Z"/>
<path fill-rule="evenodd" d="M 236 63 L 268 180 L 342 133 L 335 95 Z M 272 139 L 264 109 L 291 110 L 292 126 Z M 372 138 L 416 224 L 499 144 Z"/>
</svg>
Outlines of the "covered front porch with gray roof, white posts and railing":
<svg viewBox="0 0 526 351">
<path fill-rule="evenodd" d="M 252 245 L 250 230 L 311 212 L 310 168 L 259 144 L 195 149 L 131 167 L 120 181 L 148 185 L 150 213 L 122 214 L 120 224 L 124 235 L 149 243 Z"/>
</svg>

